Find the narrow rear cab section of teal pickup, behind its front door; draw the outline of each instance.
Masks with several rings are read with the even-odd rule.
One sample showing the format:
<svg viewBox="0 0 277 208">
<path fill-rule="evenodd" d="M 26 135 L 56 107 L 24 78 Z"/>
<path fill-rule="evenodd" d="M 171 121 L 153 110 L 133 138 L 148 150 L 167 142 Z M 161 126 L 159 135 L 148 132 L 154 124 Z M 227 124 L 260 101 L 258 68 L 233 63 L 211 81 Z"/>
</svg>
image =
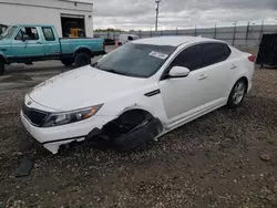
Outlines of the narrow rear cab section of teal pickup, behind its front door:
<svg viewBox="0 0 277 208">
<path fill-rule="evenodd" d="M 42 27 L 42 34 L 44 39 L 44 53 L 48 58 L 59 58 L 61 55 L 60 40 L 53 32 L 51 27 Z"/>
</svg>

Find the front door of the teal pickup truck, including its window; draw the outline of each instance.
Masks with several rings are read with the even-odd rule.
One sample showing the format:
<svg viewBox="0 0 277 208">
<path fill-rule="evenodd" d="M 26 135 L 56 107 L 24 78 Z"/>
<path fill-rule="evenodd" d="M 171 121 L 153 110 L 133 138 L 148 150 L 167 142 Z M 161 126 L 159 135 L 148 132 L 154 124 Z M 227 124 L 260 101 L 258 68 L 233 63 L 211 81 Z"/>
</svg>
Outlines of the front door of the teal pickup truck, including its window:
<svg viewBox="0 0 277 208">
<path fill-rule="evenodd" d="M 23 38 L 28 37 L 28 40 Z M 38 27 L 21 27 L 12 41 L 12 52 L 16 59 L 35 60 L 44 56 L 42 38 Z"/>
</svg>

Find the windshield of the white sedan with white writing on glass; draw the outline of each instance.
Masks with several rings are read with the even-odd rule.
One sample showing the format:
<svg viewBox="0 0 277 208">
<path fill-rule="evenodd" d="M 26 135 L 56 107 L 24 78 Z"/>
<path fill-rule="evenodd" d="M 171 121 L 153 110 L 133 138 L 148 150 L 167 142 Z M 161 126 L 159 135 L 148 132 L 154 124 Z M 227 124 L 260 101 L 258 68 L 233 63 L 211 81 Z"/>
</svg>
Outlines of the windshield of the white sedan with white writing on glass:
<svg viewBox="0 0 277 208">
<path fill-rule="evenodd" d="M 127 76 L 150 77 L 175 50 L 175 46 L 130 42 L 92 66 Z"/>
</svg>

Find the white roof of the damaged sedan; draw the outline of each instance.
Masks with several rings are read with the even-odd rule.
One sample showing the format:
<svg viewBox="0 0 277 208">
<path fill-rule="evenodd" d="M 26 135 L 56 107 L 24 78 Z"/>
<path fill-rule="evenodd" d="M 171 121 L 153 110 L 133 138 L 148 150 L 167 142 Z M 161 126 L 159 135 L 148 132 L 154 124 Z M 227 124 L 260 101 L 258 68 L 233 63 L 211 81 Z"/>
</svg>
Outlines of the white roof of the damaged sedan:
<svg viewBox="0 0 277 208">
<path fill-rule="evenodd" d="M 147 39 L 140 39 L 133 41 L 133 43 L 140 44 L 154 44 L 154 45 L 171 45 L 171 46 L 178 46 L 181 44 L 191 44 L 191 43 L 201 43 L 201 42 L 219 42 L 225 43 L 219 40 L 215 39 L 206 39 L 202 37 L 155 37 L 155 38 L 147 38 Z"/>
</svg>

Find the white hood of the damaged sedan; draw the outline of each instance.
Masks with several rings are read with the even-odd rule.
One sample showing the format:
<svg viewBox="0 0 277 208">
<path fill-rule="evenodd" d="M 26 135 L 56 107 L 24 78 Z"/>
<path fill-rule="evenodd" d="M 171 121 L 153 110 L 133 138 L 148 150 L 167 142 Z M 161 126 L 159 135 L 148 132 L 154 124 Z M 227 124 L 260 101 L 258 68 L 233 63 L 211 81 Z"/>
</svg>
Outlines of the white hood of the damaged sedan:
<svg viewBox="0 0 277 208">
<path fill-rule="evenodd" d="M 55 111 L 104 104 L 142 87 L 145 79 L 130 77 L 84 66 L 54 76 L 29 93 L 35 103 Z"/>
</svg>

